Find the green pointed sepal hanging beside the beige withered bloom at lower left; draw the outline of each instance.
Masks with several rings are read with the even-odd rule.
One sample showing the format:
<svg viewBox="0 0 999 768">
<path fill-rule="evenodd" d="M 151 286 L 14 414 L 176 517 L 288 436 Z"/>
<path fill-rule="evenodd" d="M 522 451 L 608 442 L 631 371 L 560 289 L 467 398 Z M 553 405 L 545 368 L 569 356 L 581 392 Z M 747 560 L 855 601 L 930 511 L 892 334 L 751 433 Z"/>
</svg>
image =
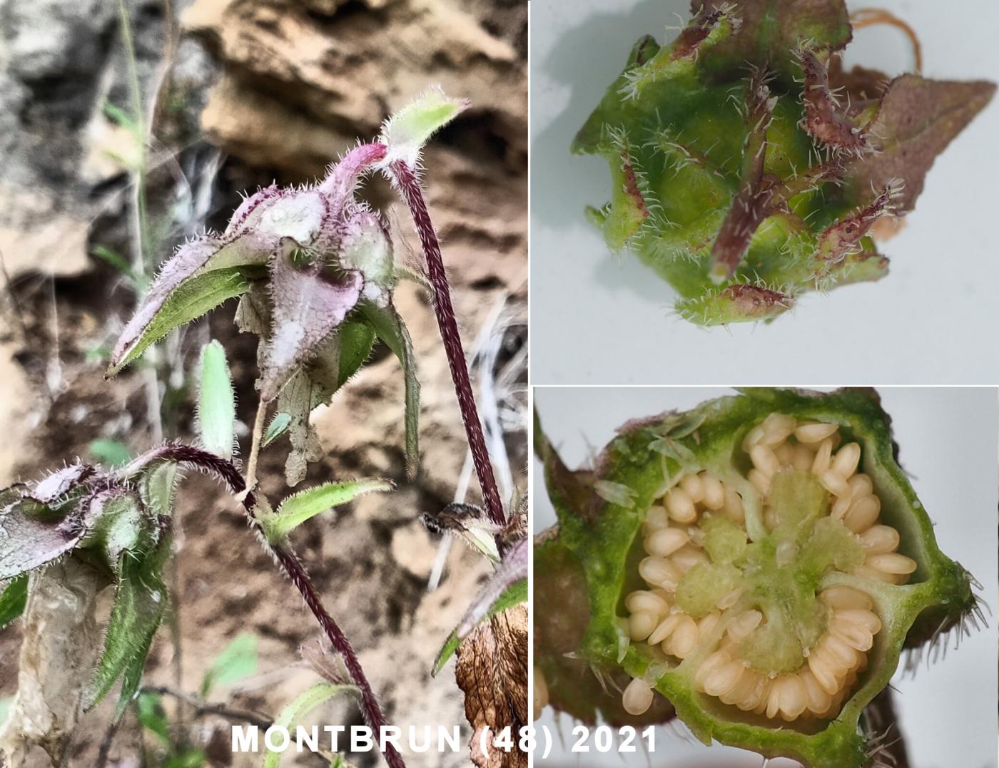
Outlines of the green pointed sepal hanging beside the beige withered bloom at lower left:
<svg viewBox="0 0 999 768">
<path fill-rule="evenodd" d="M 127 687 L 133 687 L 136 669 L 145 664 L 153 635 L 166 611 L 167 587 L 163 583 L 163 564 L 169 554 L 170 539 L 164 537 L 146 557 L 123 558 L 111 620 L 104 638 L 104 654 L 88 691 L 87 709 L 100 703 L 122 675 L 128 677 Z M 123 698 L 126 694 L 132 695 L 134 690 L 130 693 L 123 688 Z M 120 701 L 119 708 L 121 705 Z"/>
</svg>

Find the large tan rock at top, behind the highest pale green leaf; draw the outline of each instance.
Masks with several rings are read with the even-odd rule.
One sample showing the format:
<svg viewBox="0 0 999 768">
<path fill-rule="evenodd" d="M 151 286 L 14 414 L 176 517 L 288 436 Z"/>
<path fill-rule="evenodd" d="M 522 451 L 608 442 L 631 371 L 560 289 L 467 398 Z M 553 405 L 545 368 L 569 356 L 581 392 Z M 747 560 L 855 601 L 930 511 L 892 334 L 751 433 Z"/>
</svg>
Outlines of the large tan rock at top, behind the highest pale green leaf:
<svg viewBox="0 0 999 768">
<path fill-rule="evenodd" d="M 249 162 L 311 176 L 330 149 L 374 135 L 390 111 L 439 83 L 471 98 L 469 117 L 525 156 L 525 59 L 487 29 L 492 5 L 196 0 L 185 26 L 223 68 L 203 128 Z"/>
</svg>

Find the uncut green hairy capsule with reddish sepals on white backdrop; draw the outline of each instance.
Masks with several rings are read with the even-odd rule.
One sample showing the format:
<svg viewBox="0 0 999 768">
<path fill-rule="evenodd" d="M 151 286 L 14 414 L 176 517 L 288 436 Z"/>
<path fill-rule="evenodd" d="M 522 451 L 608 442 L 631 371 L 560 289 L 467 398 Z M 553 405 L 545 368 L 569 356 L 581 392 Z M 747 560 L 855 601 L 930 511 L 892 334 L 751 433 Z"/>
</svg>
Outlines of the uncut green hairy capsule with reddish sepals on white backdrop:
<svg viewBox="0 0 999 768">
<path fill-rule="evenodd" d="M 842 0 L 692 5 L 672 43 L 635 44 L 572 144 L 610 164 L 610 202 L 588 211 L 607 245 L 702 326 L 884 277 L 872 227 L 913 209 L 995 85 L 843 73 Z"/>
</svg>

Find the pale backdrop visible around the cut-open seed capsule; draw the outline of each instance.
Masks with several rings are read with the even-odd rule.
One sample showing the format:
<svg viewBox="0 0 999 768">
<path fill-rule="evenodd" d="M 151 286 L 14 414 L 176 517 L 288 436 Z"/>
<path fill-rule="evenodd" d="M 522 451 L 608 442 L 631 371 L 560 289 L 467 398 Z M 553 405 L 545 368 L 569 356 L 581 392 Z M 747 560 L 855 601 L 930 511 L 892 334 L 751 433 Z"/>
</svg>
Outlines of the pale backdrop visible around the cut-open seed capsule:
<svg viewBox="0 0 999 768">
<path fill-rule="evenodd" d="M 999 399 L 994 388 L 881 388 L 900 445 L 899 461 L 936 523 L 941 549 L 960 561 L 985 585 L 982 597 L 996 613 L 996 467 L 999 456 Z M 534 405 L 544 431 L 566 464 L 584 464 L 590 446 L 599 450 L 614 428 L 628 418 L 685 409 L 731 390 L 685 387 L 537 387 Z M 533 472 L 533 526 L 554 522 L 541 472 Z M 946 657 L 920 667 L 914 677 L 892 682 L 905 729 L 912 768 L 995 768 L 996 630 L 993 626 L 965 638 Z M 567 744 L 571 723 L 560 721 Z M 535 725 L 558 728 L 548 708 Z M 642 754 L 570 755 L 558 748 L 537 765 L 645 766 L 657 768 L 759 768 L 758 755 L 712 746 L 710 749 L 660 729 L 651 759 Z M 774 760 L 768 768 L 796 763 Z"/>
</svg>

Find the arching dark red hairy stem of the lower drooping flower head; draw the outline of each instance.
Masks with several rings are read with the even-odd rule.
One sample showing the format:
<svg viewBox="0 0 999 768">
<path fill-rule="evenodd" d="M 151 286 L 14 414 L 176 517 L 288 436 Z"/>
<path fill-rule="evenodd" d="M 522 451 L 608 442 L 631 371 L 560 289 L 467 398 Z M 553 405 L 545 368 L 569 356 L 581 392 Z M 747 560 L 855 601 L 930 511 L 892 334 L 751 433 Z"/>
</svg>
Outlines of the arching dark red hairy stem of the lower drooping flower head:
<svg viewBox="0 0 999 768">
<path fill-rule="evenodd" d="M 351 673 L 351 678 L 361 690 L 361 711 L 364 713 L 365 721 L 375 732 L 375 738 L 379 738 L 382 727 L 386 725 L 385 714 L 378 703 L 375 691 L 372 690 L 371 683 L 368 682 L 368 676 L 361 666 L 358 654 L 340 626 L 326 611 L 323 601 L 320 599 L 319 593 L 312 583 L 312 579 L 309 578 L 308 571 L 298 556 L 284 546 L 272 546 L 267 543 L 264 530 L 254 514 L 257 498 L 253 491 L 247 490 L 246 481 L 243 479 L 243 475 L 240 474 L 239 469 L 236 468 L 236 465 L 232 461 L 228 461 L 221 456 L 217 456 L 201 448 L 190 445 L 163 445 L 137 458 L 125 468 L 124 472 L 127 474 L 134 473 L 143 466 L 157 460 L 176 461 L 177 463 L 190 464 L 198 469 L 213 472 L 225 480 L 234 494 L 242 497 L 243 507 L 246 510 L 250 525 L 260 534 L 261 541 L 264 542 L 264 545 L 281 564 L 282 569 L 292 580 L 292 583 L 295 584 L 295 588 L 299 590 L 299 594 L 306 601 L 306 605 L 309 606 L 313 615 L 316 616 L 317 621 L 323 627 L 323 631 L 333 644 L 333 647 L 343 656 L 344 664 Z M 391 743 L 386 744 L 385 747 L 385 758 L 391 768 L 406 768 L 406 763 L 399 751 Z"/>
</svg>

